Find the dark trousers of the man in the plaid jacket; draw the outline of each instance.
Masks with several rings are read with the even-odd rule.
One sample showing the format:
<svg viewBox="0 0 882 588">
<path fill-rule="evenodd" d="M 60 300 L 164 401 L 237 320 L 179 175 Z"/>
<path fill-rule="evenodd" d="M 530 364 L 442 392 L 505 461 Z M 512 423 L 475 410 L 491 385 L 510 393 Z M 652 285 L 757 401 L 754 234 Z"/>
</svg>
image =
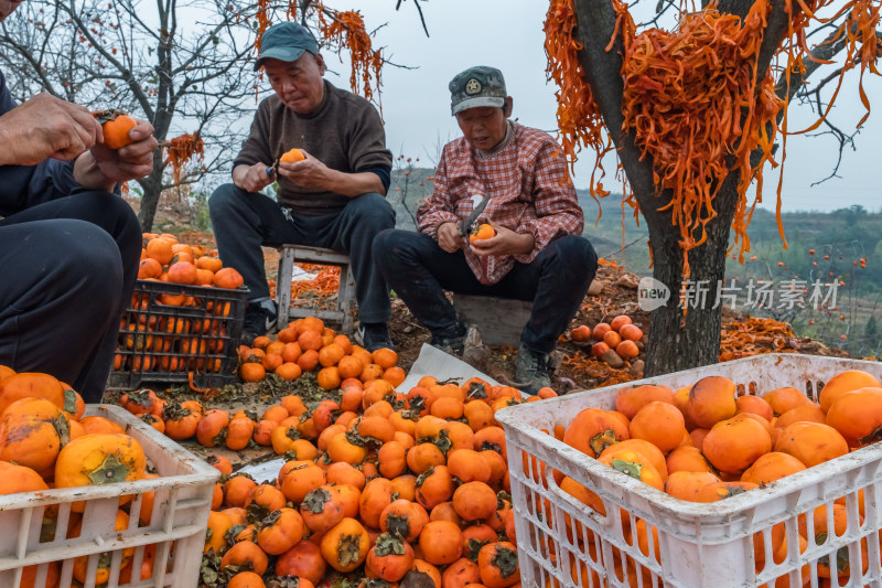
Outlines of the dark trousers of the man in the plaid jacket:
<svg viewBox="0 0 882 588">
<path fill-rule="evenodd" d="M 478 281 L 462 250 L 447 253 L 433 238 L 419 233 L 384 231 L 374 242 L 374 257 L 391 289 L 434 336 L 461 334 L 444 290 L 533 300 L 533 313 L 520 342 L 539 353 L 555 350 L 598 269 L 591 243 L 574 236 L 551 242 L 531 263 L 515 264 L 502 280 L 490 286 Z"/>
</svg>

